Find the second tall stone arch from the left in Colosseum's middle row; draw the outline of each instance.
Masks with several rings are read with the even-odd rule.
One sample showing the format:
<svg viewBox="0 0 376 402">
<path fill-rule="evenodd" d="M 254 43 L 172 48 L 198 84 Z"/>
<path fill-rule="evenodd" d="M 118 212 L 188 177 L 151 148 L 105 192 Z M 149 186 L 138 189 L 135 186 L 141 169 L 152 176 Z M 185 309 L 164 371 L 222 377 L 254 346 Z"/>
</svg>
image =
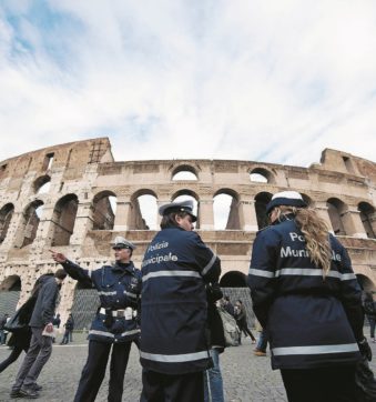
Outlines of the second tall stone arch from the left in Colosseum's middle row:
<svg viewBox="0 0 376 402">
<path fill-rule="evenodd" d="M 34 200 L 24 208 L 17 230 L 14 247 L 23 248 L 34 241 L 42 211 L 43 201 L 41 200 Z"/>
</svg>

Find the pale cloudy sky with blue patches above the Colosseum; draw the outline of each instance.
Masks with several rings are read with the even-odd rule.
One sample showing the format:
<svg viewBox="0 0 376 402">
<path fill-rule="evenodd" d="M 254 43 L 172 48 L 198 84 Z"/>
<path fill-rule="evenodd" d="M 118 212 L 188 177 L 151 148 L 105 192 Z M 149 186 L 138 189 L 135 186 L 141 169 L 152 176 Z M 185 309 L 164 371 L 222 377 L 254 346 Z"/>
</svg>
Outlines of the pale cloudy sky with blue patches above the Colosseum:
<svg viewBox="0 0 376 402">
<path fill-rule="evenodd" d="M 376 161 L 374 0 L 0 0 L 0 160 Z"/>
</svg>

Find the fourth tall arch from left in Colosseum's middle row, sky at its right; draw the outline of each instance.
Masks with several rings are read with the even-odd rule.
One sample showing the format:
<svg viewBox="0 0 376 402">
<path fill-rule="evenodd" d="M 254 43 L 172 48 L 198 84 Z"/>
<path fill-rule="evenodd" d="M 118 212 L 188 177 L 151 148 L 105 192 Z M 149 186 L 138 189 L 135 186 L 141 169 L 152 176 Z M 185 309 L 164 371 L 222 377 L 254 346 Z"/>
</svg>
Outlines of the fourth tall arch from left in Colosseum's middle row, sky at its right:
<svg viewBox="0 0 376 402">
<path fill-rule="evenodd" d="M 100 191 L 92 202 L 93 230 L 112 230 L 116 214 L 116 194 L 110 190 Z"/>
</svg>

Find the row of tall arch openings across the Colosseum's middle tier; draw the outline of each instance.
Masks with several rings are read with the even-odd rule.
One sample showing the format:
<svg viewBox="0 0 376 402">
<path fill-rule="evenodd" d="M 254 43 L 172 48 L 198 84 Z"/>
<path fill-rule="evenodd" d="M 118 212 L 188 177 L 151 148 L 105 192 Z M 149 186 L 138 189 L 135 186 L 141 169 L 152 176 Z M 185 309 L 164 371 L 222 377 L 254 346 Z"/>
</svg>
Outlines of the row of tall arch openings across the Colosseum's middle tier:
<svg viewBox="0 0 376 402">
<path fill-rule="evenodd" d="M 44 184 L 43 184 L 44 185 Z M 256 215 L 257 229 L 268 224 L 265 213 L 266 204 L 272 194 L 260 192 L 254 197 L 254 209 Z M 315 207 L 314 201 L 303 194 L 308 205 Z M 181 201 L 191 199 L 194 203 L 194 212 L 197 214 L 196 229 L 201 229 L 203 221 L 202 201 L 192 190 L 179 190 L 171 201 Z M 205 201 L 207 202 L 207 201 Z M 242 228 L 242 212 L 240 210 L 240 195 L 231 189 L 219 190 L 211 200 L 210 208 L 214 215 L 214 230 L 244 230 Z M 157 207 L 159 200 L 154 191 L 142 189 L 135 192 L 129 202 L 128 229 L 129 230 L 156 230 L 157 229 Z M 30 202 L 22 212 L 18 222 L 17 234 L 14 237 L 14 247 L 23 248 L 33 242 L 37 237 L 37 230 L 43 218 L 44 203 L 41 199 Z M 51 219 L 52 222 L 52 245 L 67 245 L 73 233 L 74 222 L 79 208 L 79 198 L 77 194 L 65 194 L 60 198 L 54 208 Z M 349 208 L 337 198 L 329 198 L 326 201 L 328 218 L 333 232 L 338 235 L 352 235 L 346 221 L 346 213 Z M 101 191 L 95 194 L 90 204 L 89 230 L 113 230 L 116 218 L 118 199 L 116 194 L 110 190 Z M 207 211 L 206 211 L 207 212 Z M 367 202 L 359 202 L 357 212 L 360 217 L 364 233 L 367 238 L 375 239 L 375 208 Z M 11 220 L 14 213 L 14 205 L 7 203 L 0 209 L 0 243 L 2 243 L 9 231 Z M 244 217 L 243 217 L 244 218 Z M 243 219 L 244 220 L 244 219 Z"/>
</svg>

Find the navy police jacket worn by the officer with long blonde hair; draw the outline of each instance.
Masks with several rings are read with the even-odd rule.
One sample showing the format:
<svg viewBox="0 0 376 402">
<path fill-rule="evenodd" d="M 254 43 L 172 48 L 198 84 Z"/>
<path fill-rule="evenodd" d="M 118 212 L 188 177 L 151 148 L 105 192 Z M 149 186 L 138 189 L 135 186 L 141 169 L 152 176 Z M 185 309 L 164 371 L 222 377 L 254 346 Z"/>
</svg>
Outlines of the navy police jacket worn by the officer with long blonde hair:
<svg viewBox="0 0 376 402">
<path fill-rule="evenodd" d="M 355 363 L 363 339 L 362 291 L 345 248 L 329 235 L 332 267 L 311 261 L 294 215 L 257 233 L 248 285 L 270 333 L 273 369 Z"/>
</svg>

